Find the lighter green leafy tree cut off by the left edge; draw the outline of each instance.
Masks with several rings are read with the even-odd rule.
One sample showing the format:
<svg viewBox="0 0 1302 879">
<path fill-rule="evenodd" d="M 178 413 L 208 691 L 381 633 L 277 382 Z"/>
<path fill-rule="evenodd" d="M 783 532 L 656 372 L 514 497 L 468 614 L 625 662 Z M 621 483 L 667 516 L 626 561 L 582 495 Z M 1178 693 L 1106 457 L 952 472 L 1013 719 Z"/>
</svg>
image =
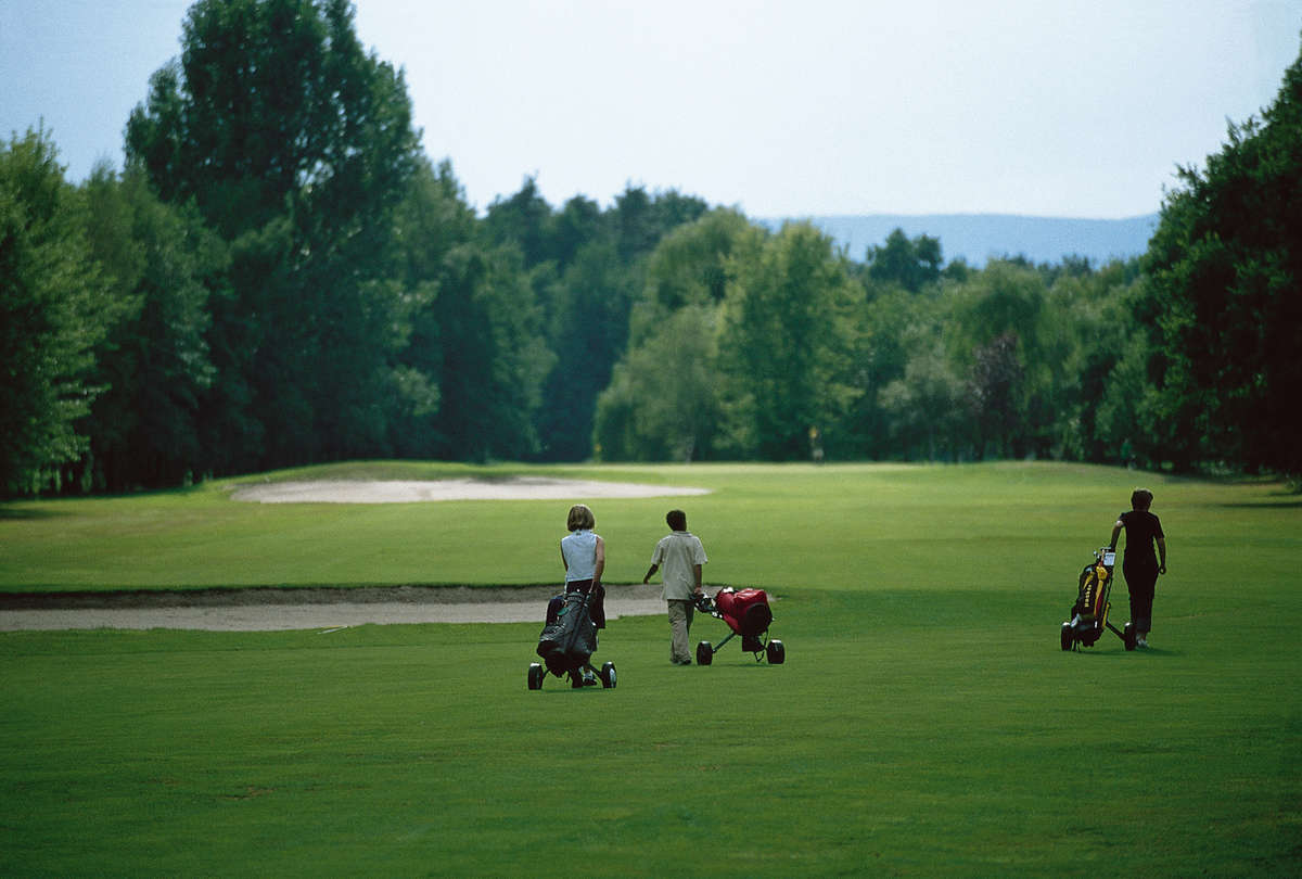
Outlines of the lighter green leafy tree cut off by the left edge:
<svg viewBox="0 0 1302 879">
<path fill-rule="evenodd" d="M 46 487 L 89 445 L 76 426 L 117 309 L 85 228 L 48 135 L 0 142 L 0 492 Z"/>
</svg>

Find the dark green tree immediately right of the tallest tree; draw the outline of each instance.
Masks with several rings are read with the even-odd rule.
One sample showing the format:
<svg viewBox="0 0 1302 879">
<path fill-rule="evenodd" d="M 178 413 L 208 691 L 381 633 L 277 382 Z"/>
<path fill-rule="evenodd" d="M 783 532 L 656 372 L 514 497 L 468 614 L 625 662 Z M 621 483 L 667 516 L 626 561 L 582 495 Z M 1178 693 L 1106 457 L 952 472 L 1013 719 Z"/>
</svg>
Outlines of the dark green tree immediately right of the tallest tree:
<svg viewBox="0 0 1302 879">
<path fill-rule="evenodd" d="M 396 451 L 535 456 L 534 418 L 553 356 L 518 244 L 484 240 L 448 163 L 421 164 L 396 223 L 395 277 L 410 326 L 395 370 Z"/>
</svg>

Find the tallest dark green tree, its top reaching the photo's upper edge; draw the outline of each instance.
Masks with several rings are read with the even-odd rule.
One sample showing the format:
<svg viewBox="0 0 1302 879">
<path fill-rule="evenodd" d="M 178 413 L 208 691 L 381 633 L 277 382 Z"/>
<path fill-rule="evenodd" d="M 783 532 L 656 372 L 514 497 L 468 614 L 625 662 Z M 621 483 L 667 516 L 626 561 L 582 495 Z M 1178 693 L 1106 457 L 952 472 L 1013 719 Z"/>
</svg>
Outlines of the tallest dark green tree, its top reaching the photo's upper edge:
<svg viewBox="0 0 1302 879">
<path fill-rule="evenodd" d="M 383 283 L 418 142 L 402 74 L 363 51 L 346 0 L 201 0 L 180 63 L 126 128 L 168 202 L 230 242 L 212 303 L 225 467 L 385 451 L 404 328 Z M 220 443 L 217 440 L 220 439 Z"/>
</svg>

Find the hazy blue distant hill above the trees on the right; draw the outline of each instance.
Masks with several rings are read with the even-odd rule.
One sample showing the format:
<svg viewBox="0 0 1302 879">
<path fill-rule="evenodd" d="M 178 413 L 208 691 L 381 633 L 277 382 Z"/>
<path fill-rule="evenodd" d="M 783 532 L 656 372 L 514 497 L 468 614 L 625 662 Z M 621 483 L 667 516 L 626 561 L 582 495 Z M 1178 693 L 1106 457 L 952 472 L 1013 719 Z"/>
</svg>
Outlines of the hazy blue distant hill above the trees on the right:
<svg viewBox="0 0 1302 879">
<path fill-rule="evenodd" d="M 1064 257 L 1088 257 L 1094 266 L 1129 259 L 1148 249 L 1157 214 L 1124 220 L 1072 220 L 1010 214 L 867 214 L 863 216 L 811 216 L 810 223 L 846 247 L 850 259 L 863 262 L 870 246 L 880 246 L 894 229 L 910 238 L 940 238 L 945 263 L 963 257 L 982 267 L 991 258 L 1023 255 L 1034 263 L 1057 263 Z M 764 219 L 771 229 L 783 219 Z"/>
</svg>

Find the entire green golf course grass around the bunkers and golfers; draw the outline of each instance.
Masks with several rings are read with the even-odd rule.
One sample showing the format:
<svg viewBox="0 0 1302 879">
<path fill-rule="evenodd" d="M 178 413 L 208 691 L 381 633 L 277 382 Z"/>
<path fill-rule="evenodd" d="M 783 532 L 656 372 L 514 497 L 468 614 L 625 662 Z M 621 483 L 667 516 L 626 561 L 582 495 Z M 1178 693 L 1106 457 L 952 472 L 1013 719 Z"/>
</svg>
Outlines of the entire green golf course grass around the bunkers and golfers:
<svg viewBox="0 0 1302 879">
<path fill-rule="evenodd" d="M 1302 501 L 1280 486 L 1052 464 L 310 475 L 523 473 L 712 490 L 590 501 L 607 581 L 641 581 L 682 507 L 707 585 L 775 596 L 786 664 L 733 642 L 671 667 L 663 617 L 603 633 L 616 690 L 542 693 L 540 622 L 0 634 L 0 875 L 1302 871 Z M 1139 482 L 1170 548 L 1155 647 L 1065 654 L 1075 576 Z M 0 590 L 557 579 L 569 501 L 228 488 L 0 504 Z"/>
</svg>

